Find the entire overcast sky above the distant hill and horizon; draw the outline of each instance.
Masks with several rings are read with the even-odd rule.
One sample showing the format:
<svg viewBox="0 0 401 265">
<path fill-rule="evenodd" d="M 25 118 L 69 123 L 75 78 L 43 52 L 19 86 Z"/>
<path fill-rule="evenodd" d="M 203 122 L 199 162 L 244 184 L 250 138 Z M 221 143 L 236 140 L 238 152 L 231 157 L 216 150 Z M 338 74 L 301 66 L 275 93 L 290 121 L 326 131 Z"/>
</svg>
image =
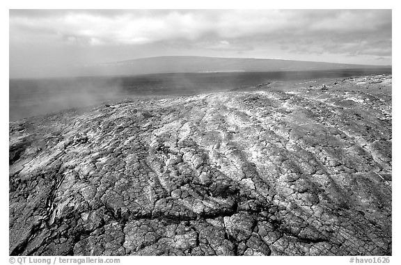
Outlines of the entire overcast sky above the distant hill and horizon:
<svg viewBox="0 0 401 265">
<path fill-rule="evenodd" d="M 152 56 L 391 65 L 391 10 L 10 10 L 10 77 Z"/>
</svg>

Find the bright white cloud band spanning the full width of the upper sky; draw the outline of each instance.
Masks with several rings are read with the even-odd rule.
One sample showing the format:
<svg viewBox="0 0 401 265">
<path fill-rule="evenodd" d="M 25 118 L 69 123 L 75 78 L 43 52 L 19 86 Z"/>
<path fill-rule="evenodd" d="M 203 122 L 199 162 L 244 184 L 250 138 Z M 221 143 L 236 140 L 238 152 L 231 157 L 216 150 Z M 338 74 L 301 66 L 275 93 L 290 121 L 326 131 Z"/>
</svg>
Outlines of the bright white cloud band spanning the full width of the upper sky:
<svg viewBox="0 0 401 265">
<path fill-rule="evenodd" d="M 391 38 L 391 10 L 15 10 L 13 27 L 99 40 L 93 45 L 317 34 Z"/>
</svg>

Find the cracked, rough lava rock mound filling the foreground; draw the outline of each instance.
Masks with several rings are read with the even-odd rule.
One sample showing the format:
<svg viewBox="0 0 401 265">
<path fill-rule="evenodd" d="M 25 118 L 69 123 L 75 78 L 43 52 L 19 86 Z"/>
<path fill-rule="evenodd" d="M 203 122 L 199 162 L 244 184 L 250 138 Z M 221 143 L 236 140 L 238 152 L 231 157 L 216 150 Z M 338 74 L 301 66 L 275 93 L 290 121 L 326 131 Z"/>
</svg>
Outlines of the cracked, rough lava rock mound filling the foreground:
<svg viewBox="0 0 401 265">
<path fill-rule="evenodd" d="M 391 76 L 264 88 L 11 122 L 10 255 L 391 255 Z"/>
</svg>

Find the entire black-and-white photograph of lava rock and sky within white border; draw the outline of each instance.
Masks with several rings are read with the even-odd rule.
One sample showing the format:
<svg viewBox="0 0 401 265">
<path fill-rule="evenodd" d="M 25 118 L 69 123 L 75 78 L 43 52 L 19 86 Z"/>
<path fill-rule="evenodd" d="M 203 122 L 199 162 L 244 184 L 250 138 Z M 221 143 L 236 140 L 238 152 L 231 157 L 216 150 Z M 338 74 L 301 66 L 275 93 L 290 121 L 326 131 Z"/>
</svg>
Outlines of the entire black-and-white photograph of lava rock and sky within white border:
<svg viewBox="0 0 401 265">
<path fill-rule="evenodd" d="M 392 13 L 10 9 L 10 263 L 389 263 Z"/>
</svg>

